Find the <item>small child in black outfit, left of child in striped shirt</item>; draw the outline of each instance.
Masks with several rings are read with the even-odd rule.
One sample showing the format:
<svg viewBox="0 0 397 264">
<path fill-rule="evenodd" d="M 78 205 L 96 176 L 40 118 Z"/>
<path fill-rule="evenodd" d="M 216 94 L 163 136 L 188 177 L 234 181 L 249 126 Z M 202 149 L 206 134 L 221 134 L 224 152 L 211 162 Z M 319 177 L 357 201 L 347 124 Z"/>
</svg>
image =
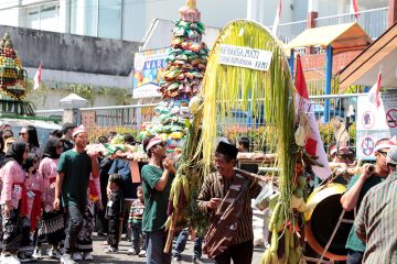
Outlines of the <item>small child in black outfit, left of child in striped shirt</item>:
<svg viewBox="0 0 397 264">
<path fill-rule="evenodd" d="M 125 212 L 125 200 L 120 189 L 122 185 L 120 175 L 110 175 L 109 184 L 110 196 L 105 213 L 106 219 L 109 220 L 109 232 L 107 237 L 109 248 L 107 249 L 107 253 L 115 253 L 118 251 L 118 244 L 120 242 Z"/>
</svg>

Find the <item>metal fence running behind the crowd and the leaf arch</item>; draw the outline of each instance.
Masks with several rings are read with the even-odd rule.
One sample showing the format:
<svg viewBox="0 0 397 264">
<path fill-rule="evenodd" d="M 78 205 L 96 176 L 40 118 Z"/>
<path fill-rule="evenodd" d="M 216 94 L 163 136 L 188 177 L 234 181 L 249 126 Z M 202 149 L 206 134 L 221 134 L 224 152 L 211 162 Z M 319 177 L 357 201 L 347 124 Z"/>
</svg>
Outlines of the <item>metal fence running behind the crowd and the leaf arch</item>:
<svg viewBox="0 0 397 264">
<path fill-rule="evenodd" d="M 355 109 L 357 109 L 357 96 L 360 94 L 351 95 L 330 95 L 330 96 L 312 96 L 310 97 L 312 107 L 311 111 L 314 113 L 323 141 L 325 144 L 332 142 L 331 123 L 324 123 L 324 116 L 326 120 L 332 121 L 334 118 L 345 119 L 350 111 L 350 121 L 355 122 Z M 329 102 L 330 112 L 324 112 L 324 105 Z M 258 106 L 262 103 L 258 100 Z M 155 103 L 152 105 L 136 105 L 136 106 L 118 106 L 118 107 L 97 107 L 83 108 L 82 121 L 87 127 L 94 128 L 127 128 L 139 130 L 144 122 L 151 121 L 154 117 Z M 40 117 L 62 117 L 63 111 L 56 110 L 39 110 L 36 114 Z M 269 134 L 269 139 L 273 140 L 277 135 L 269 131 L 269 125 L 266 125 L 265 112 L 259 110 L 256 114 L 248 111 L 243 111 L 236 107 L 227 118 L 219 119 L 221 131 L 232 141 L 236 141 L 240 136 L 247 136 L 251 142 L 251 151 L 269 151 L 264 148 L 264 142 L 258 142 L 258 134 Z M 330 136 L 331 133 L 331 136 Z"/>
</svg>

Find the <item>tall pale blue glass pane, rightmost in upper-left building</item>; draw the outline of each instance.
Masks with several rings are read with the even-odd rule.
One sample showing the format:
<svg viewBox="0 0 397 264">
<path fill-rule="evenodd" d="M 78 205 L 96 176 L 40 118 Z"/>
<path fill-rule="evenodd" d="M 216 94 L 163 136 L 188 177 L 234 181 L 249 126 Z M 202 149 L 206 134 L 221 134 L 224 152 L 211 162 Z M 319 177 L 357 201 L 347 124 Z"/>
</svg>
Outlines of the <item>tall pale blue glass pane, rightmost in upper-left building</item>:
<svg viewBox="0 0 397 264">
<path fill-rule="evenodd" d="M 121 38 L 122 0 L 99 0 L 98 36 Z"/>
</svg>

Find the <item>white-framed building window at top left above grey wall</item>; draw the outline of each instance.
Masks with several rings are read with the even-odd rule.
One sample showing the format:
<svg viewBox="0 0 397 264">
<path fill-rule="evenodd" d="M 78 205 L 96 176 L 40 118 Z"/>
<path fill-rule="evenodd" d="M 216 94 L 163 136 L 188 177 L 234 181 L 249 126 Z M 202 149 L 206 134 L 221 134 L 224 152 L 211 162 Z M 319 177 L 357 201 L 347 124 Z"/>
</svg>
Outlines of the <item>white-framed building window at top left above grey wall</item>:
<svg viewBox="0 0 397 264">
<path fill-rule="evenodd" d="M 28 26 L 34 30 L 58 32 L 58 6 L 43 6 L 28 11 Z"/>
</svg>

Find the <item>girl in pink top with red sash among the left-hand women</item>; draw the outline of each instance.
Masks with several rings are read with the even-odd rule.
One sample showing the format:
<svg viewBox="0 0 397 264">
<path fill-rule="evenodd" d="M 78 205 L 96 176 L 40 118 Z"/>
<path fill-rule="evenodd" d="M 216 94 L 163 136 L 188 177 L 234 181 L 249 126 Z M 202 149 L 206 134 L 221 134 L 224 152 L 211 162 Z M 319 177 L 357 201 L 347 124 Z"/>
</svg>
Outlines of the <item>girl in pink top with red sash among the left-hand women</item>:
<svg viewBox="0 0 397 264">
<path fill-rule="evenodd" d="M 40 160 L 36 154 L 30 153 L 28 158 L 23 161 L 22 168 L 26 173 L 24 182 L 24 190 L 26 197 L 26 211 L 21 213 L 22 221 L 22 242 L 18 250 L 18 255 L 21 262 L 32 260 L 33 234 L 37 227 L 37 220 L 41 218 L 41 204 L 43 193 L 43 177 L 39 173 Z"/>
</svg>

